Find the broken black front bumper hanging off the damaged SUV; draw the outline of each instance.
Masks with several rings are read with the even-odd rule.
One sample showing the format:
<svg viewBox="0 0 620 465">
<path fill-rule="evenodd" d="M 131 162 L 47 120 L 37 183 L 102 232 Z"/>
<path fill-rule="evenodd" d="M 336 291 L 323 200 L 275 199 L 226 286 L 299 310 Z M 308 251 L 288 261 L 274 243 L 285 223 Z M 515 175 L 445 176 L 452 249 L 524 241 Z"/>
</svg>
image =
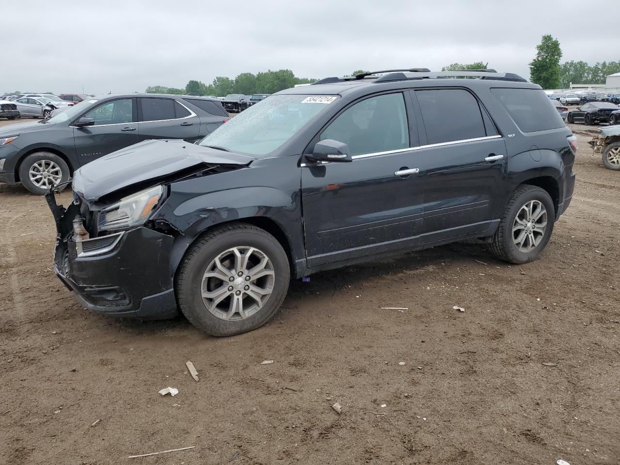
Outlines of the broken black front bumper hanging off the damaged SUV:
<svg viewBox="0 0 620 465">
<path fill-rule="evenodd" d="M 45 196 L 56 222 L 54 272 L 87 309 L 110 316 L 166 319 L 178 314 L 170 250 L 172 236 L 140 226 L 76 241 L 79 205 Z"/>
</svg>

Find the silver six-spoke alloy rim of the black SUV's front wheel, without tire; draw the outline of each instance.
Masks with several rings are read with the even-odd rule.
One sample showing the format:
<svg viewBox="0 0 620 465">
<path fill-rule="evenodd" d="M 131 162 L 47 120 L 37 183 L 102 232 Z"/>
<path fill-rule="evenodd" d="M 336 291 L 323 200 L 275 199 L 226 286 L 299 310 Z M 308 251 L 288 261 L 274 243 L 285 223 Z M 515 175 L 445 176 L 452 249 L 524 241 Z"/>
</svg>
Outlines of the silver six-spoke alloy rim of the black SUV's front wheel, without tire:
<svg viewBox="0 0 620 465">
<path fill-rule="evenodd" d="M 201 282 L 206 309 L 223 320 L 258 312 L 273 292 L 275 272 L 269 257 L 250 246 L 232 247 L 211 261 Z"/>
</svg>

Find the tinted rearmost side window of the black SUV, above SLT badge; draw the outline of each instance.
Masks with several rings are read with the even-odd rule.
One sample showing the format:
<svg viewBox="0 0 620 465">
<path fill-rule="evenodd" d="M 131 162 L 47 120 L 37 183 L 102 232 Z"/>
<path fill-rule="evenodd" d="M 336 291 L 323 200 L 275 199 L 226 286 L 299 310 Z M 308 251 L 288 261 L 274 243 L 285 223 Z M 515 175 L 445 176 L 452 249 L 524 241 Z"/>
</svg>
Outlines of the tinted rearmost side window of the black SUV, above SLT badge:
<svg viewBox="0 0 620 465">
<path fill-rule="evenodd" d="M 565 126 L 542 89 L 495 87 L 491 93 L 506 108 L 521 132 L 533 133 Z"/>
</svg>

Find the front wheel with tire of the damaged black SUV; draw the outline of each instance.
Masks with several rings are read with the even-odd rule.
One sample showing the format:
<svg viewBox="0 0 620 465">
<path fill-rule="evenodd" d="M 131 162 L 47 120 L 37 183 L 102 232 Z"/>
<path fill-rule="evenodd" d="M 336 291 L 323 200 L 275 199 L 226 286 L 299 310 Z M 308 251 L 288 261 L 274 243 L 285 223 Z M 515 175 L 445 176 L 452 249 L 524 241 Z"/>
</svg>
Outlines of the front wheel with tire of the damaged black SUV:
<svg viewBox="0 0 620 465">
<path fill-rule="evenodd" d="M 179 308 L 213 336 L 257 329 L 280 308 L 290 280 L 286 252 L 249 224 L 211 231 L 185 255 L 177 278 Z"/>
</svg>

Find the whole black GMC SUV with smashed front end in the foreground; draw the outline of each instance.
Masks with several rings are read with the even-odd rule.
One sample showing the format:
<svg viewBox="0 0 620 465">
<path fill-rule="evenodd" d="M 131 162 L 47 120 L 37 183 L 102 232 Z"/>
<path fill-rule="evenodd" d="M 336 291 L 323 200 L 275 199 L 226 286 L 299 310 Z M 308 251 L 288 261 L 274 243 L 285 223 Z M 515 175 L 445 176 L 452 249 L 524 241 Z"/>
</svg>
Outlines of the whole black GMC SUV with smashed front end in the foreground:
<svg viewBox="0 0 620 465">
<path fill-rule="evenodd" d="M 480 238 L 536 259 L 569 206 L 576 138 L 508 73 L 326 78 L 273 94 L 199 144 L 150 141 L 77 170 L 55 272 L 89 309 L 252 330 L 306 277 Z M 449 79 L 473 76 L 479 79 Z"/>
</svg>

